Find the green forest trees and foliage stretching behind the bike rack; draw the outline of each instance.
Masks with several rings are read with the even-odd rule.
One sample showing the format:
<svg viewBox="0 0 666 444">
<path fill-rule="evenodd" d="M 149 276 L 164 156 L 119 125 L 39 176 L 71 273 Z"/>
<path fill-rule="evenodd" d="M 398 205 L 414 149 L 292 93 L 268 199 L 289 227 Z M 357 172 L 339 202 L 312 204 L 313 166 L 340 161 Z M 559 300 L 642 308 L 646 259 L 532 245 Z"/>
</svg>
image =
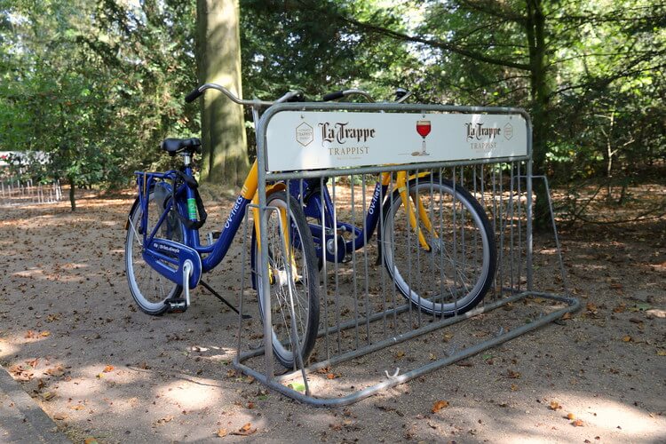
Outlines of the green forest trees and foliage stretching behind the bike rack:
<svg viewBox="0 0 666 444">
<path fill-rule="evenodd" d="M 201 131 L 184 101 L 201 81 L 196 3 L 0 0 L 0 151 L 50 153 L 28 174 L 76 186 L 166 166 L 159 142 Z M 663 180 L 661 2 L 241 0 L 234 20 L 244 98 L 354 87 L 390 99 L 400 86 L 423 103 L 524 107 L 535 170 L 564 191 L 568 218 L 594 218 L 583 190 L 622 204 Z M 245 126 L 251 141 L 249 114 Z"/>
</svg>

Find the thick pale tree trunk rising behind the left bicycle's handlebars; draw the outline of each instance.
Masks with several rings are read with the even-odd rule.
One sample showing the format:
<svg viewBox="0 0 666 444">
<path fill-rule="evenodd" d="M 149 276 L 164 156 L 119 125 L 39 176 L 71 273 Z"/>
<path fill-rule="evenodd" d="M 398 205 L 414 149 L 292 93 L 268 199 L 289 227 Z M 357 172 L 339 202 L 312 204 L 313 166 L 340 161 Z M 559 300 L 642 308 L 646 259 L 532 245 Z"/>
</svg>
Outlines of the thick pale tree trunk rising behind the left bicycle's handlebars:
<svg viewBox="0 0 666 444">
<path fill-rule="evenodd" d="M 201 83 L 219 83 L 241 96 L 237 0 L 197 0 L 197 65 Z M 202 99 L 202 180 L 242 185 L 250 168 L 243 110 L 221 93 Z"/>
</svg>

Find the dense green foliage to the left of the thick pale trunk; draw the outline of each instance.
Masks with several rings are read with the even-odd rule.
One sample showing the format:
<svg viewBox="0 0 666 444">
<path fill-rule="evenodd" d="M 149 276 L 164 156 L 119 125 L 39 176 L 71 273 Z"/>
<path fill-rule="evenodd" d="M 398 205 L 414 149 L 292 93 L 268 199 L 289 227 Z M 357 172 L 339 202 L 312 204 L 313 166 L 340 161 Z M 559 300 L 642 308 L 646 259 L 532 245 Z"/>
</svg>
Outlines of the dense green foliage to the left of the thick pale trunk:
<svg viewBox="0 0 666 444">
<path fill-rule="evenodd" d="M 0 6 L 0 150 L 44 151 L 50 176 L 113 186 L 161 166 L 164 137 L 198 131 L 178 93 L 195 84 L 194 7 L 123 5 Z"/>
</svg>

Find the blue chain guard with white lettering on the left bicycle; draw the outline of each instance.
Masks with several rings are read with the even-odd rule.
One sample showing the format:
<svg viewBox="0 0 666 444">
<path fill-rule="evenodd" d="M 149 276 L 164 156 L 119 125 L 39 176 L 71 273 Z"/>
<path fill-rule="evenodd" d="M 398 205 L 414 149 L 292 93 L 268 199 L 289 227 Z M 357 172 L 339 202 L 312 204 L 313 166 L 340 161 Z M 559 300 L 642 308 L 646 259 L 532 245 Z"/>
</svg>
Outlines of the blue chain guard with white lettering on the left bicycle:
<svg viewBox="0 0 666 444">
<path fill-rule="evenodd" d="M 154 239 L 143 250 L 143 259 L 153 269 L 168 280 L 183 284 L 183 266 L 189 260 L 192 263 L 192 274 L 187 284 L 190 289 L 199 285 L 202 278 L 202 258 L 196 250 L 179 242 L 168 239 Z"/>
</svg>

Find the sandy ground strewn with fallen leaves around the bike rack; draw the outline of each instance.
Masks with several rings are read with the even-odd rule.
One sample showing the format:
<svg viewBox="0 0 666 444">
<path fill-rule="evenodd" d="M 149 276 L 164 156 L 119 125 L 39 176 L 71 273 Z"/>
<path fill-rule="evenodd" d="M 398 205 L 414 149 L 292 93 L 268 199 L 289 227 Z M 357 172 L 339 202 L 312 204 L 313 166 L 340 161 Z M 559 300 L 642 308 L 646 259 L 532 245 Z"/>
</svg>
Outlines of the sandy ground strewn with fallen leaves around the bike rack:
<svg viewBox="0 0 666 444">
<path fill-rule="evenodd" d="M 232 201 L 219 202 L 210 214 Z M 568 319 L 352 406 L 313 408 L 234 371 L 238 319 L 204 291 L 186 313 L 139 312 L 123 266 L 130 206 L 82 195 L 75 213 L 0 208 L 0 362 L 75 442 L 666 441 L 663 218 L 562 233 L 583 305 Z M 241 254 L 236 244 L 208 277 L 234 302 Z M 556 261 L 540 271 L 557 274 Z M 475 322 L 496 329 L 491 315 Z M 373 360 L 357 367 L 380 381 Z M 360 385 L 358 374 L 336 377 Z"/>
</svg>

